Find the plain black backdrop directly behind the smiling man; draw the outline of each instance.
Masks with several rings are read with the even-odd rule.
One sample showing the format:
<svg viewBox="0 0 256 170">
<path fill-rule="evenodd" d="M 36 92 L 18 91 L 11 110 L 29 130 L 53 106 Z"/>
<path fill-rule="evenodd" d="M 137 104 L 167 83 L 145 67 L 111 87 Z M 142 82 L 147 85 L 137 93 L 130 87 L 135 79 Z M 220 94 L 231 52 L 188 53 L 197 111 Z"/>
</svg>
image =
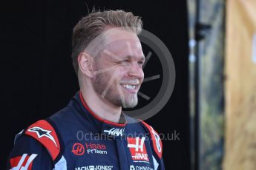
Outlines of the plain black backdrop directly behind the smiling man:
<svg viewBox="0 0 256 170">
<path fill-rule="evenodd" d="M 8 4 L 7 4 L 8 3 Z M 9 1 L 1 5 L 1 167 L 16 133 L 64 107 L 79 89 L 71 62 L 71 33 L 91 10 L 122 9 L 142 16 L 144 29 L 157 35 L 176 67 L 167 105 L 146 120 L 165 135 L 165 169 L 190 169 L 188 110 L 188 17 L 182 1 Z M 151 63 L 147 67 L 161 67 Z M 152 86 L 152 88 L 154 88 Z"/>
</svg>

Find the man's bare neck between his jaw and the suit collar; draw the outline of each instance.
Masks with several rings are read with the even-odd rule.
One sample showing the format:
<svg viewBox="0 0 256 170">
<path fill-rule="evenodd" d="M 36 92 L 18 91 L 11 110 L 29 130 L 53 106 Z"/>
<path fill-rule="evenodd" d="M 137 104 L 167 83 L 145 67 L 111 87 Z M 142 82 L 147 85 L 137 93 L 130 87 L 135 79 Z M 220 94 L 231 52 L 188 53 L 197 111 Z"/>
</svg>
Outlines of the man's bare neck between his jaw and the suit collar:
<svg viewBox="0 0 256 170">
<path fill-rule="evenodd" d="M 97 115 L 99 118 L 109 120 L 111 122 L 119 123 L 120 115 L 122 112 L 121 106 L 113 106 L 108 101 L 102 100 L 100 96 L 96 95 L 93 90 L 80 89 L 82 97 L 88 105 L 88 107 Z"/>
</svg>

